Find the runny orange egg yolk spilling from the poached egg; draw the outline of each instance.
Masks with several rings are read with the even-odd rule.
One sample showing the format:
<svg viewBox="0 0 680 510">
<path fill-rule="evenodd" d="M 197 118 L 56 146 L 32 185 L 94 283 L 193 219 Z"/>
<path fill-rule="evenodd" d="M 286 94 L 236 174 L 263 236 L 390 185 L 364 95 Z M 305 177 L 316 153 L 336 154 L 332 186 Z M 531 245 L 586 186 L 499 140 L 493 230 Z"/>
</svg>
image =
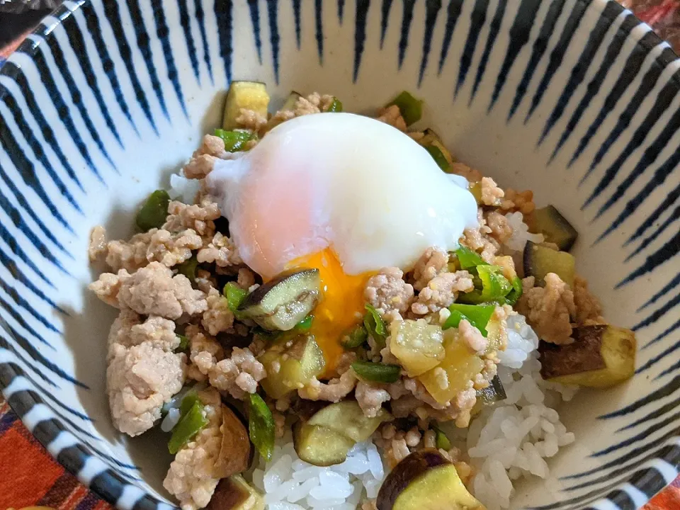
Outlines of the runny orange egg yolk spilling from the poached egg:
<svg viewBox="0 0 680 510">
<path fill-rule="evenodd" d="M 324 352 L 326 375 L 331 375 L 344 352 L 342 337 L 361 324 L 365 314 L 363 290 L 368 278 L 375 273 L 346 274 L 330 248 L 291 261 L 288 269 L 295 268 L 319 270 L 321 297 L 312 312 L 310 334 Z"/>
</svg>

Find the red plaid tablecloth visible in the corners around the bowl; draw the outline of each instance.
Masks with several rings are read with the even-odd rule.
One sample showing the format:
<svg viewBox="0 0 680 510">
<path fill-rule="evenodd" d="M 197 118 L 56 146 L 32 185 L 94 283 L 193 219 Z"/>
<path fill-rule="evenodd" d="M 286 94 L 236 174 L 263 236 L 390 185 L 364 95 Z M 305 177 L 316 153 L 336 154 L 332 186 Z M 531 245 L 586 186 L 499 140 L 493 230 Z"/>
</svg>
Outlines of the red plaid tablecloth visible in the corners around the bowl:
<svg viewBox="0 0 680 510">
<path fill-rule="evenodd" d="M 620 1 L 680 50 L 680 0 Z M 0 36 L 3 28 L 16 28 L 17 20 L 23 15 L 11 20 L 7 16 L 11 15 L 0 13 Z M 30 26 L 18 30 L 16 38 L 0 48 L 0 63 L 29 30 Z M 64 471 L 0 397 L 0 510 L 25 506 L 50 506 L 57 510 L 111 509 Z M 644 510 L 680 510 L 680 477 Z"/>
</svg>

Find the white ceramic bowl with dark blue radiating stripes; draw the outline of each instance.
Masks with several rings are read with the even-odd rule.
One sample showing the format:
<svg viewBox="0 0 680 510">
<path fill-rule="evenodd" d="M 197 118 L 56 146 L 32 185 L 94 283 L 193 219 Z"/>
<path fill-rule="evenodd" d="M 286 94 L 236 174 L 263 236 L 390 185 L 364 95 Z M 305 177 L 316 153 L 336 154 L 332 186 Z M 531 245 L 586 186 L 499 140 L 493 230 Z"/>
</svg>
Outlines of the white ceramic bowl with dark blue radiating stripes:
<svg viewBox="0 0 680 510">
<path fill-rule="evenodd" d="M 232 79 L 423 126 L 577 227 L 579 273 L 635 329 L 638 370 L 565 405 L 577 442 L 515 507 L 635 509 L 680 466 L 680 62 L 605 0 L 66 1 L 0 70 L 0 382 L 28 429 L 120 509 L 171 505 L 155 433 L 115 433 L 114 310 L 87 292 L 89 231 L 126 237 L 220 123 Z M 370 140 L 367 140 L 370 142 Z"/>
</svg>

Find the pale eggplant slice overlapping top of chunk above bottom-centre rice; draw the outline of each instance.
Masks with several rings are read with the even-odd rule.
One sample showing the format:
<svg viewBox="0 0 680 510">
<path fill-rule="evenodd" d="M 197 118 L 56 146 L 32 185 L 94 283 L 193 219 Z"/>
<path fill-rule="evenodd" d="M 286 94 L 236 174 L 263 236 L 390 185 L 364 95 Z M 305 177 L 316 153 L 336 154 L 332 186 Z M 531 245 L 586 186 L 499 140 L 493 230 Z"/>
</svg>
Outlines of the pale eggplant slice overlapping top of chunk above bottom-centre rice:
<svg viewBox="0 0 680 510">
<path fill-rule="evenodd" d="M 378 414 L 369 418 L 355 400 L 346 400 L 324 407 L 307 421 L 307 425 L 321 426 L 361 443 L 370 438 L 380 424 L 391 420 L 392 415 L 385 409 L 380 409 Z"/>
</svg>

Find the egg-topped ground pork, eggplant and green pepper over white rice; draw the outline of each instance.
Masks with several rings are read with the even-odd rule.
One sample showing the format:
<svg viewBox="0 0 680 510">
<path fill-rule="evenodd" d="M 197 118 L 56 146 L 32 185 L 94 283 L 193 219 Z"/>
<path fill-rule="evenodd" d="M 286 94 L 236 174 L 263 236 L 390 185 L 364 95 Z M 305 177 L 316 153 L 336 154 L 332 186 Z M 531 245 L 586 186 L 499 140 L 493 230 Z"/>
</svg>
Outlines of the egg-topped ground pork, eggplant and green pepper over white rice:
<svg viewBox="0 0 680 510">
<path fill-rule="evenodd" d="M 560 401 L 633 375 L 577 232 L 409 129 L 407 92 L 268 106 L 232 83 L 140 232 L 91 234 L 113 424 L 169 434 L 183 510 L 507 508 L 574 441 Z"/>
</svg>

